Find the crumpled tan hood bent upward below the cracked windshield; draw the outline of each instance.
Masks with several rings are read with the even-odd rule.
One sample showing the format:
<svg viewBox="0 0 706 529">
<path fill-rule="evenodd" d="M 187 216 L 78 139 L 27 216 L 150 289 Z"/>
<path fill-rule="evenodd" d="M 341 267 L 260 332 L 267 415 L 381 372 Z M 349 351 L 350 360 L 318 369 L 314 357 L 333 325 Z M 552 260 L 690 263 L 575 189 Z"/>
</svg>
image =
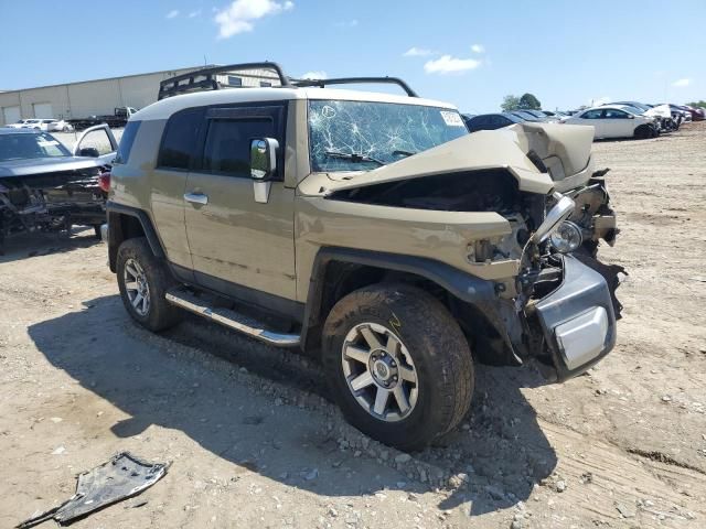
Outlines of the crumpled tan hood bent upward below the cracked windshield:
<svg viewBox="0 0 706 529">
<path fill-rule="evenodd" d="M 482 130 L 366 172 L 312 173 L 299 184 L 304 195 L 461 171 L 506 169 L 521 191 L 548 194 L 555 181 L 581 172 L 590 162 L 593 128 L 557 123 L 518 123 Z M 527 158 L 534 151 L 548 169 Z"/>
</svg>

